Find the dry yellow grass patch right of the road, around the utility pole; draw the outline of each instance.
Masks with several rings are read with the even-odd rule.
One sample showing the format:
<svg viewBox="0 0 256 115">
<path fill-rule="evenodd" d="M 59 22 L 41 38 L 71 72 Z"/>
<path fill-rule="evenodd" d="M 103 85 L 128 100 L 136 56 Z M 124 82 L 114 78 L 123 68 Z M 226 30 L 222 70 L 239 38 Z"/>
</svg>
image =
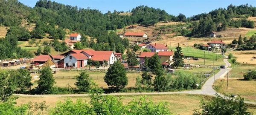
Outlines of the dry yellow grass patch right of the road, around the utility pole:
<svg viewBox="0 0 256 115">
<path fill-rule="evenodd" d="M 256 102 L 256 80 L 231 78 L 228 83 L 227 88 L 227 78 L 216 80 L 216 84 L 221 87 L 218 92 L 240 95 L 245 101 Z"/>
</svg>

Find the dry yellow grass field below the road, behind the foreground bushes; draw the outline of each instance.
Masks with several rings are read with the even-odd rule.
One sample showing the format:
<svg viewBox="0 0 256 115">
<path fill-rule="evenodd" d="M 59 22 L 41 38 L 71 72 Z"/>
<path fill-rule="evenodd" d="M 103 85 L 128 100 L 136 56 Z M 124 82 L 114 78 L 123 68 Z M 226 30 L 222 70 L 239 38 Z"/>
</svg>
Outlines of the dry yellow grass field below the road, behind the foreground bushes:
<svg viewBox="0 0 256 115">
<path fill-rule="evenodd" d="M 118 96 L 119 97 L 119 96 Z M 128 104 L 132 99 L 139 98 L 140 96 L 122 96 L 120 98 L 124 104 Z M 205 98 L 203 95 L 186 95 L 186 94 L 177 94 L 177 95 L 148 95 L 147 98 L 151 99 L 154 103 L 158 102 L 167 102 L 169 103 L 168 108 L 170 111 L 178 115 L 191 115 L 193 109 L 199 109 L 200 100 Z M 76 101 L 78 98 L 81 98 L 85 101 L 89 101 L 89 97 L 70 97 L 73 101 Z M 64 101 L 67 97 L 19 97 L 17 105 L 25 104 L 29 101 L 31 102 L 41 102 L 46 101 L 46 104 L 50 108 L 54 107 L 58 101 Z"/>
</svg>

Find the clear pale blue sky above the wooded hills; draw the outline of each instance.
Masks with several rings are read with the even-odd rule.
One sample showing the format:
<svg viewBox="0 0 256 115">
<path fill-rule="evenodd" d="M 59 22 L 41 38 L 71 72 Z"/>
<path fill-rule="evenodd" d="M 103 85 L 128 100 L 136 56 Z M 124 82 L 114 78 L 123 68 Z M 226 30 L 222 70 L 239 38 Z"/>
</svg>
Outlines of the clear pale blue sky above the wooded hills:
<svg viewBox="0 0 256 115">
<path fill-rule="evenodd" d="M 34 7 L 37 0 L 18 0 L 21 3 Z M 107 11 L 129 11 L 136 6 L 149 6 L 164 9 L 168 14 L 185 14 L 190 17 L 195 14 L 209 12 L 214 9 L 227 8 L 230 4 L 239 6 L 248 3 L 256 6 L 256 0 L 52 0 L 58 3 L 78 6 L 81 8 L 90 7 L 98 9 L 102 13 Z"/>
</svg>

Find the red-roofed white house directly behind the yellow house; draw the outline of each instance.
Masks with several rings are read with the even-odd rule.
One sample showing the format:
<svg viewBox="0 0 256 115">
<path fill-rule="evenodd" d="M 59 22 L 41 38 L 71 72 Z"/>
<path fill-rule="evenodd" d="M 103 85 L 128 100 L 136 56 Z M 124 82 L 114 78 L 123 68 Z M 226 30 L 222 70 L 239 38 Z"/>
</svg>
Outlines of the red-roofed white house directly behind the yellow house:
<svg viewBox="0 0 256 115">
<path fill-rule="evenodd" d="M 159 51 L 168 51 L 167 44 L 156 44 L 151 43 L 148 46 L 146 46 L 147 49 L 150 49 L 151 52 L 159 52 Z"/>
</svg>

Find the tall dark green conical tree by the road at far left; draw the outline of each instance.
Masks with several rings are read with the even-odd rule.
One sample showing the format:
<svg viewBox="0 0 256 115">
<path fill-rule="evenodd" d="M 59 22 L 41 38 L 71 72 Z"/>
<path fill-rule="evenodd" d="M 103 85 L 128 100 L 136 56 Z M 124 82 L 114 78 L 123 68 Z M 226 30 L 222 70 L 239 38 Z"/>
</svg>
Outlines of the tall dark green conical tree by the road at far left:
<svg viewBox="0 0 256 115">
<path fill-rule="evenodd" d="M 52 76 L 52 69 L 49 66 L 41 69 L 37 87 L 38 93 L 50 94 L 54 83 L 55 80 Z"/>
</svg>

